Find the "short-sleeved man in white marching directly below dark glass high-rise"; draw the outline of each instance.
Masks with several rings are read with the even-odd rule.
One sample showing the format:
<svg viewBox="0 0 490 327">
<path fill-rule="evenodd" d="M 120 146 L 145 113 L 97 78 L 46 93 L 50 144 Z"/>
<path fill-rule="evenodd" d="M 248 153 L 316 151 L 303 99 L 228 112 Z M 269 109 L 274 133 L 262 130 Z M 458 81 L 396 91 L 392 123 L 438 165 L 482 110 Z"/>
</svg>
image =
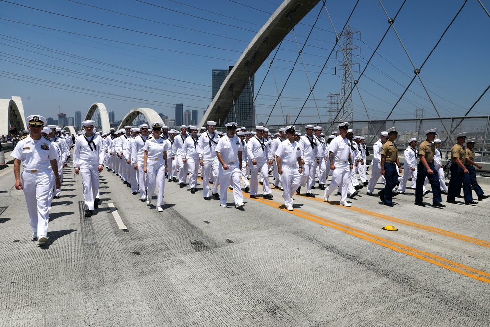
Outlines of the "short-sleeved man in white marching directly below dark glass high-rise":
<svg viewBox="0 0 490 327">
<path fill-rule="evenodd" d="M 240 209 L 243 202 L 242 189 L 240 188 L 240 174 L 242 170 L 242 142 L 235 135 L 237 123 L 231 122 L 225 125 L 226 134 L 221 137 L 216 145 L 216 156 L 220 161 L 218 178 L 220 179 L 220 205 L 227 208 L 228 185 L 233 185 L 233 197 L 235 208 Z"/>
</svg>

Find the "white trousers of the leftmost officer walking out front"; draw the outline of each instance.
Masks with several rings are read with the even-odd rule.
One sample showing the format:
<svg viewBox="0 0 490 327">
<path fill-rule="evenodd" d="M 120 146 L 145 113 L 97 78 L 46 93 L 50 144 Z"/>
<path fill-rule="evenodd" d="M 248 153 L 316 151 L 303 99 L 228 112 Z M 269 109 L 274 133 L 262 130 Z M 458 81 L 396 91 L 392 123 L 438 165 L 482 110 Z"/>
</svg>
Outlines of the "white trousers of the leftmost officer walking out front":
<svg viewBox="0 0 490 327">
<path fill-rule="evenodd" d="M 51 172 L 31 173 L 24 170 L 21 174 L 30 225 L 38 236 L 48 235 L 48 216 L 53 192 Z"/>
</svg>

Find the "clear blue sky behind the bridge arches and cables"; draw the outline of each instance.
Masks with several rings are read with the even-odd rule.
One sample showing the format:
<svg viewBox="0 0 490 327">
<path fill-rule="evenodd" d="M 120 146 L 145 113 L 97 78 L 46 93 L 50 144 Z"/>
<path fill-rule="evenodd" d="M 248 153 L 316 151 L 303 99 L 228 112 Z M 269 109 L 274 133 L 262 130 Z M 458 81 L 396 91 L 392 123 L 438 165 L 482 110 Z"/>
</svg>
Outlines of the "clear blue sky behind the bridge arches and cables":
<svg viewBox="0 0 490 327">
<path fill-rule="evenodd" d="M 30 9 L 12 3 L 20 4 Z M 394 17 L 402 0 L 382 0 Z M 83 3 L 83 4 L 82 4 Z M 102 102 L 116 119 L 135 107 L 149 107 L 174 118 L 175 103 L 202 111 L 211 102 L 211 70 L 233 65 L 248 43 L 277 9 L 280 0 L 9 0 L 0 1 L 0 98 L 20 96 L 25 114 L 55 117 L 58 106 L 68 116 L 84 115 Z M 462 0 L 408 0 L 395 28 L 416 67 L 432 50 L 456 15 Z M 490 1 L 482 1 L 490 8 Z M 153 5 L 152 5 L 153 4 Z M 355 1 L 329 0 L 326 8 L 340 33 Z M 93 7 L 91 7 L 93 6 Z M 98 7 L 98 8 L 95 8 Z M 104 10 L 105 9 L 105 10 Z M 40 11 L 44 10 L 46 12 Z M 322 3 L 283 42 L 270 71 L 266 62 L 255 75 L 258 121 L 265 122 L 319 12 L 320 18 L 295 66 L 269 124 L 293 120 L 317 80 L 335 42 Z M 58 15 L 55 15 L 55 14 Z M 61 15 L 70 16 L 63 17 Z M 132 17 L 133 16 L 133 17 Z M 83 21 L 85 20 L 85 21 Z M 15 22 L 13 22 L 15 21 Z M 20 24 L 20 23 L 24 24 Z M 116 26 L 116 27 L 111 27 Z M 355 34 L 354 78 L 358 78 L 388 27 L 380 1 L 360 1 L 348 25 Z M 490 18 L 477 0 L 468 0 L 421 71 L 421 78 L 442 117 L 462 116 L 490 81 Z M 117 42 L 115 42 L 117 41 Z M 275 53 L 275 51 L 273 52 Z M 341 53 L 337 58 L 340 60 Z M 300 122 L 327 121 L 328 94 L 340 91 L 339 60 L 328 60 L 306 103 Z M 371 119 L 385 119 L 413 76 L 413 67 L 390 30 L 359 88 Z M 308 79 L 306 78 L 308 76 Z M 490 93 L 490 92 L 489 92 Z M 354 119 L 367 118 L 359 93 L 353 93 Z M 486 94 L 470 115 L 488 115 Z M 317 111 L 318 108 L 318 111 Z M 417 108 L 437 117 L 416 79 L 391 118 L 413 118 Z"/>
</svg>

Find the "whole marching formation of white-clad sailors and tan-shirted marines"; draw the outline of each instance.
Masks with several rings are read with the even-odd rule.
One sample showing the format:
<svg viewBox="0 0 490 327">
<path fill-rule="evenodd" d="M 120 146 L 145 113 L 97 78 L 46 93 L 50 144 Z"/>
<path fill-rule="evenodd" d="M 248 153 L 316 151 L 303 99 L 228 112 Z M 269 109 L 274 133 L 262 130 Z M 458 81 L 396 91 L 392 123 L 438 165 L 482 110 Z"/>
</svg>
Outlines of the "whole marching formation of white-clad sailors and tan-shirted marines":
<svg viewBox="0 0 490 327">
<path fill-rule="evenodd" d="M 306 133 L 301 135 L 290 125 L 279 129 L 271 139 L 264 126 L 256 126 L 252 132 L 234 122 L 225 125 L 225 133 L 215 131 L 214 121 L 208 121 L 207 127 L 201 129 L 182 125 L 176 131 L 161 122 L 152 122 L 96 132 L 95 122 L 86 120 L 73 144 L 70 135 L 65 136 L 58 126 L 46 125 L 44 117 L 32 115 L 27 120 L 30 134 L 19 140 L 11 155 L 15 158 L 15 187 L 24 191 L 32 236 L 39 245 L 47 241 L 51 202 L 60 197 L 62 172 L 72 147 L 74 173 L 81 176 L 83 183 L 85 217 L 91 217 L 98 209 L 99 177 L 104 166 L 150 207 L 156 193 L 155 207 L 159 212 L 164 211 L 166 180 L 178 183 L 180 188 L 189 185 L 190 193 L 196 194 L 199 170 L 204 200 L 214 197 L 221 207 L 227 208 L 230 189 L 235 208 L 241 210 L 245 206 L 242 192 L 257 198 L 259 184 L 261 197 L 273 199 L 270 174 L 272 186 L 283 191 L 285 208 L 290 211 L 294 193 L 301 195 L 301 189 L 304 196 L 315 198 L 312 189 L 317 182 L 318 188 L 324 191 L 325 201 L 335 192 L 340 195 L 340 205 L 349 207 L 352 201 L 347 198 L 355 199 L 364 186 L 368 186 L 366 194 L 374 196 L 380 177 L 385 185 L 378 195 L 382 204 L 389 207 L 394 206 L 394 196 L 405 193 L 409 178 L 412 179 L 410 189 L 415 189 L 414 204 L 419 206 L 426 206 L 423 198 L 430 193 L 426 189 L 429 183 L 432 206 L 437 208 L 445 207 L 442 194 L 447 194 L 447 203 L 457 203 L 458 197 L 464 198 L 465 204 L 477 204 L 472 190 L 479 200 L 489 197 L 478 185 L 476 168 L 482 166 L 474 161 L 475 140 L 466 140 L 466 132 L 456 135 L 457 143 L 449 152 L 451 178 L 447 188 L 441 139 L 436 139 L 436 129 L 425 131 L 425 140 L 420 145 L 417 138 L 408 140 L 403 166 L 396 145 L 397 128 L 381 132 L 373 145 L 368 181 L 369 150 L 365 138 L 354 136 L 346 122 L 339 124 L 331 135 L 323 134 L 320 126 L 313 125 L 304 126 Z M 327 185 L 328 175 L 331 181 Z"/>
</svg>

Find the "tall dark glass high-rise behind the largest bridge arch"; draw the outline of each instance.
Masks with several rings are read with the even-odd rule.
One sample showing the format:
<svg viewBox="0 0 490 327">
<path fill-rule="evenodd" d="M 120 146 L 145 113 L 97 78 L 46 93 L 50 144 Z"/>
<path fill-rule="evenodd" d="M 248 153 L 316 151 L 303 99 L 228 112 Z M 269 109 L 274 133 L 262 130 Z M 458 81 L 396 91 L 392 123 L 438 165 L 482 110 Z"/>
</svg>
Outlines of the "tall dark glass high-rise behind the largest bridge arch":
<svg viewBox="0 0 490 327">
<path fill-rule="evenodd" d="M 221 84 L 233 69 L 233 66 L 229 66 L 226 69 L 213 69 L 213 76 L 211 80 L 211 99 L 220 90 Z M 250 78 L 250 81 L 245 86 L 242 94 L 235 100 L 234 108 L 231 108 L 228 117 L 224 122 L 220 122 L 220 125 L 224 125 L 228 122 L 237 122 L 238 126 L 254 126 L 255 125 L 255 105 L 253 103 L 255 76 Z"/>
</svg>

